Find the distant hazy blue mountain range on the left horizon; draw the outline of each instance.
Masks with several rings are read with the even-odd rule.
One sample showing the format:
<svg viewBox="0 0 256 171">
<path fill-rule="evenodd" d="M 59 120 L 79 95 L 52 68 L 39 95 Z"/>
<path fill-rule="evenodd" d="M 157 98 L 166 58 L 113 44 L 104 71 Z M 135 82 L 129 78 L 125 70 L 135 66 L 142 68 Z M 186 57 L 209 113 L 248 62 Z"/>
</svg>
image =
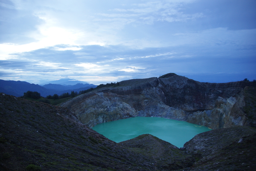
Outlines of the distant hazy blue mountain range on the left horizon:
<svg viewBox="0 0 256 171">
<path fill-rule="evenodd" d="M 13 95 L 16 97 L 23 96 L 24 92 L 27 91 L 37 91 L 41 94 L 41 96 L 46 97 L 48 95 L 58 94 L 61 95 L 63 93 L 71 93 L 71 91 L 78 92 L 82 90 L 87 90 L 89 88 L 96 88 L 97 85 L 93 84 L 83 84 L 83 83 L 77 83 L 81 81 L 68 81 L 71 79 L 61 79 L 57 80 L 60 81 L 61 84 L 46 84 L 46 85 L 38 85 L 38 84 L 30 84 L 25 81 L 6 81 L 6 80 L 0 80 L 0 92 Z M 70 85 L 65 85 L 67 83 L 70 83 Z M 76 83 L 73 85 L 73 83 Z"/>
</svg>

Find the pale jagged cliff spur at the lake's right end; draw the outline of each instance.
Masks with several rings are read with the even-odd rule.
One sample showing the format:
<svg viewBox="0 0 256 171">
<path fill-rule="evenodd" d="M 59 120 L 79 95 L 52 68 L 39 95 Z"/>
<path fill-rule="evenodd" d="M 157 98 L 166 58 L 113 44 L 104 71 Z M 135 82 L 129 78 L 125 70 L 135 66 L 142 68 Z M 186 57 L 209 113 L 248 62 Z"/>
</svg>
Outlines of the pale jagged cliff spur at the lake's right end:
<svg viewBox="0 0 256 171">
<path fill-rule="evenodd" d="M 255 87 L 245 87 L 235 96 L 218 97 L 212 110 L 193 112 L 188 116 L 187 122 L 213 129 L 229 128 L 235 125 L 255 127 L 256 113 L 250 112 L 249 114 L 249 111 L 255 111 L 256 108 L 256 96 L 253 95 L 255 93 Z M 245 111 L 245 106 L 247 106 L 248 111 Z"/>
</svg>

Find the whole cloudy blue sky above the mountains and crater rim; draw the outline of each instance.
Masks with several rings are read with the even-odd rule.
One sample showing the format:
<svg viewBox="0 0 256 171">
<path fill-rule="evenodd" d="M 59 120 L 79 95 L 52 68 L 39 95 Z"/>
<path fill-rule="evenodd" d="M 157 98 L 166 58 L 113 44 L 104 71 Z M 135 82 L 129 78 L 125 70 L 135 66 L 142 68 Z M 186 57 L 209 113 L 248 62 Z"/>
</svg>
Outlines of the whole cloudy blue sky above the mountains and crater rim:
<svg viewBox="0 0 256 171">
<path fill-rule="evenodd" d="M 0 79 L 256 80 L 256 0 L 0 0 Z"/>
</svg>

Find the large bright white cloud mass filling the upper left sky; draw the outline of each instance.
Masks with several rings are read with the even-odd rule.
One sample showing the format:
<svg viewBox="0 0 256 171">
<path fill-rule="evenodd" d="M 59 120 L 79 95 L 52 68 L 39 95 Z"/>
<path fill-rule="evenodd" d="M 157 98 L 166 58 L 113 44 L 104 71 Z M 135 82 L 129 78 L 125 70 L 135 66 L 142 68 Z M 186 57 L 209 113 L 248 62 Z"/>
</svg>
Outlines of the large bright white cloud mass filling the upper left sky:
<svg viewBox="0 0 256 171">
<path fill-rule="evenodd" d="M 9 54 L 10 51 L 32 51 L 58 44 L 117 45 L 130 41 L 123 37 L 122 30 L 126 26 L 153 25 L 157 21 L 178 22 L 201 17 L 198 13 L 186 14 L 185 8 L 181 8 L 191 1 L 134 2 L 136 1 L 119 6 L 125 9 L 108 9 L 105 8 L 108 3 L 104 2 L 101 6 L 93 6 L 95 10 L 92 11 L 90 5 L 95 5 L 94 3 L 80 0 L 75 3 L 63 1 L 61 4 L 48 0 L 20 3 L 6 0 L 6 3 L 2 3 L 5 4 L 2 5 L 2 16 L 9 17 L 1 20 L 3 34 L 0 36 L 2 43 L 15 45 L 2 45 L 0 48 L 4 49 L 2 53 Z M 117 6 L 118 4 L 120 3 Z M 121 40 L 120 37 L 126 40 Z M 144 43 L 143 47 L 146 44 L 152 45 Z"/>
</svg>

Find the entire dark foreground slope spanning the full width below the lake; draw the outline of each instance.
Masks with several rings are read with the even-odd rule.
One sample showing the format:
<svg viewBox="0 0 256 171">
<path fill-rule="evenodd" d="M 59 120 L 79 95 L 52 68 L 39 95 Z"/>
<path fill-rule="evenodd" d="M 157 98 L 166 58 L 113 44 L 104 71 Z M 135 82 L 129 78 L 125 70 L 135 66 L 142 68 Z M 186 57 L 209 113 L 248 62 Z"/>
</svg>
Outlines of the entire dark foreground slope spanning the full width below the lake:
<svg viewBox="0 0 256 171">
<path fill-rule="evenodd" d="M 254 171 L 256 130 L 217 129 L 185 148 L 151 135 L 116 143 L 67 108 L 0 93 L 1 171 Z"/>
</svg>

